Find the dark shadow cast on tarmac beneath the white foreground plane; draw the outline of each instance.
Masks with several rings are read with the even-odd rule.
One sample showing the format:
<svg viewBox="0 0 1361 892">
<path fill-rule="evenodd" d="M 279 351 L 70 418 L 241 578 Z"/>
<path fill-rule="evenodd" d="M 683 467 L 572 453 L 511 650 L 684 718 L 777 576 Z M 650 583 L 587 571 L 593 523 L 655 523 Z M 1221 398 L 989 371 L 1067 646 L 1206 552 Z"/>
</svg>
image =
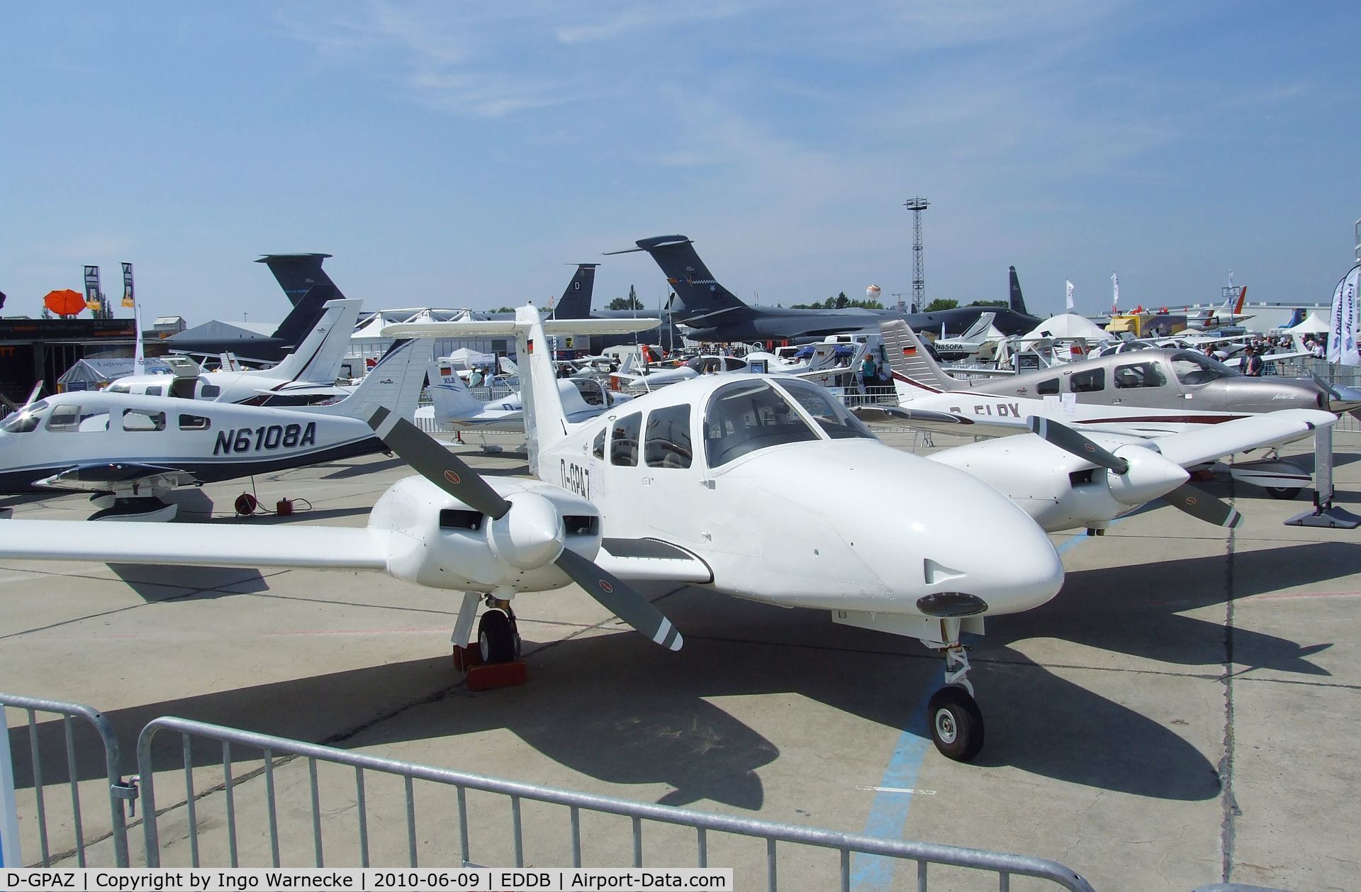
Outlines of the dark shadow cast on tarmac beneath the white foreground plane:
<svg viewBox="0 0 1361 892">
<path fill-rule="evenodd" d="M 1286 549 L 1290 561 L 1283 560 Z M 1166 561 L 1145 572 L 1113 568 L 1070 573 L 1053 602 L 1000 618 L 979 641 L 972 678 L 988 716 L 988 744 L 980 764 L 1161 799 L 1217 797 L 1217 771 L 1196 746 L 1007 646 L 1028 637 L 1063 639 L 1204 666 L 1218 675 L 1225 659 L 1225 626 L 1179 613 L 1332 579 L 1351 565 L 1353 553 L 1347 543 L 1237 552 L 1232 586 L 1224 557 Z M 381 748 L 445 738 L 449 749 L 444 756 L 426 759 L 467 771 L 486 768 L 465 759 L 459 737 L 505 729 L 546 759 L 591 778 L 615 784 L 667 784 L 671 791 L 660 798 L 664 803 L 708 799 L 743 809 L 761 808 L 758 771 L 774 763 L 780 749 L 716 700 L 757 695 L 764 700 L 758 707 L 762 715 L 773 716 L 783 729 L 798 729 L 800 720 L 817 723 L 817 710 L 804 703 L 811 700 L 887 729 L 925 734 L 924 704 L 940 684 L 940 660 L 915 641 L 838 626 L 819 611 L 774 610 L 695 588 L 660 603 L 686 633 L 679 654 L 667 654 L 632 632 L 539 646 L 534 641 L 534 617 L 525 611 L 521 620 L 531 681 L 521 688 L 470 692 L 441 654 L 106 715 L 124 741 L 124 769 L 129 774 L 135 771 L 131 760 L 136 734 L 162 715 L 336 746 Z M 1236 663 L 1327 674 L 1307 660 L 1327 644 L 1301 647 L 1239 628 L 1233 637 Z M 815 745 L 827 746 L 827 741 Z M 39 724 L 39 746 L 46 753 L 45 782 L 64 779 L 60 722 Z M 890 749 L 882 753 L 885 763 Z M 26 729 L 11 730 L 11 750 L 16 782 L 31 786 Z M 211 744 L 196 746 L 193 753 L 200 765 L 220 761 L 220 749 Z M 79 775 L 101 776 L 101 759 L 97 748 L 82 750 Z M 181 765 L 177 735 L 159 737 L 154 759 L 158 769 Z M 257 753 L 241 752 L 238 759 L 253 760 Z M 870 763 L 878 764 L 874 759 Z M 950 764 L 943 768 L 969 769 Z M 847 776 L 848 784 L 878 780 L 876 774 Z"/>
</svg>

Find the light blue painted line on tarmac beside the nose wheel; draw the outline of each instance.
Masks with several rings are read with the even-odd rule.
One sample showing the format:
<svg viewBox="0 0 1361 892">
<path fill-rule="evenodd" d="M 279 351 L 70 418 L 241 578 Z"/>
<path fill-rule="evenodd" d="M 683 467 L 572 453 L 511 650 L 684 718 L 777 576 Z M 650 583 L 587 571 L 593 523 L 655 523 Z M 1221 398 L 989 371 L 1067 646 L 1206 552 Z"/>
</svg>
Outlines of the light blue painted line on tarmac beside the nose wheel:
<svg viewBox="0 0 1361 892">
<path fill-rule="evenodd" d="M 1119 523 L 1119 522 L 1116 522 Z M 1078 545 L 1087 542 L 1092 537 L 1074 535 L 1067 542 L 1055 546 L 1055 552 L 1063 556 Z M 927 727 L 927 703 L 935 690 L 927 690 L 908 716 L 909 729 Z M 932 749 L 931 738 L 905 730 L 898 737 L 893 754 L 889 757 L 889 767 L 883 769 L 879 780 L 879 790 L 874 794 L 870 805 L 870 816 L 864 821 L 867 836 L 882 836 L 883 839 L 902 839 L 902 828 L 908 824 L 908 812 L 912 809 L 912 793 L 889 793 L 889 790 L 916 790 L 917 772 L 921 761 Z M 874 892 L 875 889 L 891 889 L 893 870 L 900 861 L 882 855 L 864 855 L 856 853 L 851 858 L 851 888 L 856 892 Z"/>
</svg>

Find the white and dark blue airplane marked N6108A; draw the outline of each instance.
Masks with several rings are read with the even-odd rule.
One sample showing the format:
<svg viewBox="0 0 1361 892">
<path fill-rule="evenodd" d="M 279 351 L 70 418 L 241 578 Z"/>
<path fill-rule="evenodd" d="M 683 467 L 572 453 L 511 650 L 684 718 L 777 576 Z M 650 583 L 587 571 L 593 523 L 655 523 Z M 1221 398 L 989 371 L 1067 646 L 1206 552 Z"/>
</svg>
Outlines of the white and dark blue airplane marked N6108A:
<svg viewBox="0 0 1361 892">
<path fill-rule="evenodd" d="M 427 360 L 429 342 L 395 345 L 354 394 L 310 409 L 57 394 L 0 424 L 0 493 L 87 492 L 91 520 L 169 520 L 177 486 L 385 451 L 365 421 L 377 406 L 411 417 Z"/>
</svg>

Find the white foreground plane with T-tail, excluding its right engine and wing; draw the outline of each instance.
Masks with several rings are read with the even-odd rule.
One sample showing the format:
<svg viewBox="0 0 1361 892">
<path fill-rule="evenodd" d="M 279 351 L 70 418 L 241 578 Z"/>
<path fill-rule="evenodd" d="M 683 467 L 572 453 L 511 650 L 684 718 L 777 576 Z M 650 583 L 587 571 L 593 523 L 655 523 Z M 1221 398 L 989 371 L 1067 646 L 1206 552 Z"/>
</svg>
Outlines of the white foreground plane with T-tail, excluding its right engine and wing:
<svg viewBox="0 0 1361 892">
<path fill-rule="evenodd" d="M 931 735 L 946 756 L 973 759 L 984 729 L 961 632 L 980 633 L 985 617 L 1057 594 L 1063 564 L 1049 538 L 987 483 L 881 443 L 826 391 L 789 376 L 708 376 L 570 424 L 547 336 L 646 324 L 656 320 L 544 323 L 527 306 L 513 321 L 388 328 L 514 335 L 521 372 L 529 369 L 521 387 L 539 479 L 483 479 L 381 409 L 370 424 L 419 475 L 380 497 L 366 528 L 170 524 L 147 537 L 114 522 L 91 537 L 69 522 L 10 520 L 0 526 L 0 557 L 387 571 L 464 592 L 456 643 L 468 640 L 486 598 L 478 641 L 491 660 L 519 648 L 510 598 L 569 582 L 672 650 L 679 632 L 623 580 L 829 610 L 837 622 L 945 652 Z M 867 481 L 874 511 L 847 496 Z M 642 493 L 672 509 L 649 509 Z"/>
</svg>

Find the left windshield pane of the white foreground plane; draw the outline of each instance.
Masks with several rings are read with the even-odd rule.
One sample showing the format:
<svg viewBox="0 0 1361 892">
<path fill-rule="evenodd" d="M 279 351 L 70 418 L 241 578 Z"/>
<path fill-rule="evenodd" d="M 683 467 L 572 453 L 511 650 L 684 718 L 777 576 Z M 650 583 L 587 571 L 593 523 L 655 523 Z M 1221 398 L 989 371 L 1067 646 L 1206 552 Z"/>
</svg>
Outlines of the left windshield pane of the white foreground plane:
<svg viewBox="0 0 1361 892">
<path fill-rule="evenodd" d="M 709 467 L 757 449 L 818 439 L 798 410 L 761 380 L 720 387 L 704 414 L 704 453 Z"/>
</svg>

